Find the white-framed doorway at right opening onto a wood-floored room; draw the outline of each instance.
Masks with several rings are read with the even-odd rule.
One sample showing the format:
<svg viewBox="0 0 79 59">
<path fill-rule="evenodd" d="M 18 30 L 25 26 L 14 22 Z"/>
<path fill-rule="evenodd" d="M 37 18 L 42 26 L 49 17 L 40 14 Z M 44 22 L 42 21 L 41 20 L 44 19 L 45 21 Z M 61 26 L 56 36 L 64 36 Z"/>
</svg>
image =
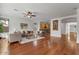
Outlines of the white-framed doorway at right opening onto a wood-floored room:
<svg viewBox="0 0 79 59">
<path fill-rule="evenodd" d="M 68 46 L 70 46 L 72 48 L 76 47 L 76 41 L 77 41 L 76 25 L 77 25 L 76 22 L 66 24 Z"/>
</svg>

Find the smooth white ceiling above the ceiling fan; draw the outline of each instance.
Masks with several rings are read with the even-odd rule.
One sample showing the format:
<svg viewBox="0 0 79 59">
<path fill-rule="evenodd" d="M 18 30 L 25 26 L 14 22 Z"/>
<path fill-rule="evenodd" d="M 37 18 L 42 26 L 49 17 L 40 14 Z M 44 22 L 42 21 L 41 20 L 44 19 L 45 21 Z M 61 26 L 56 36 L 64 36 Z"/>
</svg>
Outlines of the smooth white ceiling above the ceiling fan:
<svg viewBox="0 0 79 59">
<path fill-rule="evenodd" d="M 36 12 L 37 16 L 42 19 L 51 19 L 56 17 L 68 16 L 76 14 L 79 8 L 77 3 L 0 3 L 0 15 L 17 15 L 22 16 L 26 11 Z M 18 11 L 14 11 L 17 9 Z M 23 17 L 23 16 L 22 16 Z"/>
</svg>

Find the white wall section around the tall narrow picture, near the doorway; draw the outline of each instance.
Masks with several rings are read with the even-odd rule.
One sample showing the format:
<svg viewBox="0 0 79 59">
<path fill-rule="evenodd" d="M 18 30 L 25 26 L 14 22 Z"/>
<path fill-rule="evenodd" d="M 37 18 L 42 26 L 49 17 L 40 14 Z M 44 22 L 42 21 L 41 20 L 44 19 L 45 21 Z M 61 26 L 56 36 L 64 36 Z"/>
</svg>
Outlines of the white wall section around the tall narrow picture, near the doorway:
<svg viewBox="0 0 79 59">
<path fill-rule="evenodd" d="M 76 17 L 76 15 L 70 15 L 70 16 L 66 16 L 66 17 L 51 19 L 51 28 L 50 28 L 51 33 L 50 33 L 50 35 L 55 36 L 55 37 L 61 37 L 61 34 L 66 34 L 66 23 L 68 21 L 66 23 L 65 22 L 62 23 L 62 20 L 63 19 L 69 19 L 69 18 L 75 18 L 75 17 Z M 58 31 L 53 30 L 53 20 L 59 20 Z M 69 22 L 71 22 L 71 21 L 69 21 Z"/>
</svg>

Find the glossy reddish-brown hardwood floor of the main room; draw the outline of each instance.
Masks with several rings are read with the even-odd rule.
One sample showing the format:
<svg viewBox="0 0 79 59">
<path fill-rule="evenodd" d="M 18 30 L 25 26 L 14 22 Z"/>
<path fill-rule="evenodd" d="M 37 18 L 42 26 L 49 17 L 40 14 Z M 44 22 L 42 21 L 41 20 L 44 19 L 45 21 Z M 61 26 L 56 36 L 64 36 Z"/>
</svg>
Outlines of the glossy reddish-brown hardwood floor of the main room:
<svg viewBox="0 0 79 59">
<path fill-rule="evenodd" d="M 44 39 L 37 41 L 37 46 L 33 42 L 19 44 L 10 44 L 11 55 L 75 55 L 79 54 L 78 46 L 72 48 L 68 46 L 65 36 L 55 38 L 46 36 Z M 76 44 L 77 45 L 77 44 Z"/>
</svg>

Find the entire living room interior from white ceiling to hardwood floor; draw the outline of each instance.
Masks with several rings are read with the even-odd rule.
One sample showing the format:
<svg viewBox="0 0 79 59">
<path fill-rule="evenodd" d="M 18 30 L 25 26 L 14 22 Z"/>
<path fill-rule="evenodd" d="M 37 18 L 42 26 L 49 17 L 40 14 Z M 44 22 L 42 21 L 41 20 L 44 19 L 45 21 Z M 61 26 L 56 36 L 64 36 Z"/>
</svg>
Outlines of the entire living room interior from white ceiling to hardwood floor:
<svg viewBox="0 0 79 59">
<path fill-rule="evenodd" d="M 7 39 L 5 43 L 7 46 L 2 49 L 5 50 L 2 54 L 79 54 L 76 47 L 79 44 L 79 31 L 76 30 L 79 26 L 78 5 L 73 3 L 0 4 L 0 9 L 3 11 L 0 12 L 0 20 L 7 24 L 6 31 L 2 30 L 2 25 L 0 30 L 1 39 L 4 39 L 4 42 Z M 64 46 L 69 48 L 63 49 Z"/>
</svg>

